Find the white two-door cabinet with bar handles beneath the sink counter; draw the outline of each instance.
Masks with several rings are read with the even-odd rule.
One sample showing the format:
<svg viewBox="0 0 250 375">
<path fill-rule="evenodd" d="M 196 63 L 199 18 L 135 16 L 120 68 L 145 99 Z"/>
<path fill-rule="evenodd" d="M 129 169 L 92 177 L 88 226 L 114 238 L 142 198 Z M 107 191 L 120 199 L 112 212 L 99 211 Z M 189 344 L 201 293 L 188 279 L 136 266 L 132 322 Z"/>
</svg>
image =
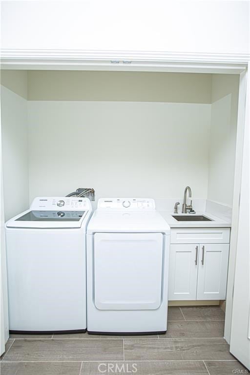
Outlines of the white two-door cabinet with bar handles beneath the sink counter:
<svg viewBox="0 0 250 375">
<path fill-rule="evenodd" d="M 171 229 L 170 301 L 226 298 L 229 235 L 228 228 Z"/>
</svg>

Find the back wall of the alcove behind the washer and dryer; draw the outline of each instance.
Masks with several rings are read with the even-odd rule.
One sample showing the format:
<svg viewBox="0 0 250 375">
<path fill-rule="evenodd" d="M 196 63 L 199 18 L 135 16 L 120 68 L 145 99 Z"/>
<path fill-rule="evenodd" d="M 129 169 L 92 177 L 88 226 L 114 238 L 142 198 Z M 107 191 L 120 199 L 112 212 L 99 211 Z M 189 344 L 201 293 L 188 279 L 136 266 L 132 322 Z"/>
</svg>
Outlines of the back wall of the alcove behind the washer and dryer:
<svg viewBox="0 0 250 375">
<path fill-rule="evenodd" d="M 29 71 L 30 199 L 84 181 L 97 197 L 180 197 L 190 184 L 206 198 L 211 78 Z"/>
</svg>

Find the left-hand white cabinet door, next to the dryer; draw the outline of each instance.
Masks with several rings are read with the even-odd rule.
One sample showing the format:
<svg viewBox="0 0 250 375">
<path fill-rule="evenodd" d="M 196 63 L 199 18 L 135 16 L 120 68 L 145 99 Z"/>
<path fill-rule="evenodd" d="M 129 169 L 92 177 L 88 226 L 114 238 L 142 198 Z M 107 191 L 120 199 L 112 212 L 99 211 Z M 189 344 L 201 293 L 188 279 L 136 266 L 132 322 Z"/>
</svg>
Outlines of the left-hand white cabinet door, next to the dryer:
<svg viewBox="0 0 250 375">
<path fill-rule="evenodd" d="M 199 257 L 198 244 L 170 246 L 168 299 L 195 300 Z"/>
</svg>

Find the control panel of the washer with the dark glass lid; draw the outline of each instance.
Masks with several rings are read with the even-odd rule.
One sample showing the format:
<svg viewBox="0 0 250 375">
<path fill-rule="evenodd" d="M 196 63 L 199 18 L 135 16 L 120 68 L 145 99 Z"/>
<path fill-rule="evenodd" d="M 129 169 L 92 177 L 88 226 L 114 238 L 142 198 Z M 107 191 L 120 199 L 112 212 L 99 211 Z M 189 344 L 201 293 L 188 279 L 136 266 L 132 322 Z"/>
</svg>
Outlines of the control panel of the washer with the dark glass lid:
<svg viewBox="0 0 250 375">
<path fill-rule="evenodd" d="M 88 198 L 82 197 L 37 197 L 30 208 L 40 211 L 89 211 L 91 203 Z"/>
</svg>

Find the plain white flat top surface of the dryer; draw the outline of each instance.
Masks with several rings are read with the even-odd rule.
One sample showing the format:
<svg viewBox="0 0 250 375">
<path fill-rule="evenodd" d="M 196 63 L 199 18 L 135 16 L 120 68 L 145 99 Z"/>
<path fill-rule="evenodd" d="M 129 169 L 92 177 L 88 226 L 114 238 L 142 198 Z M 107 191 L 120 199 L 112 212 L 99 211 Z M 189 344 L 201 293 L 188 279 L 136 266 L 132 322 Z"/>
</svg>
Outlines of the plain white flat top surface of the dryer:
<svg viewBox="0 0 250 375">
<path fill-rule="evenodd" d="M 97 209 L 88 223 L 87 234 L 97 232 L 170 234 L 170 227 L 155 210 L 141 212 Z"/>
</svg>

